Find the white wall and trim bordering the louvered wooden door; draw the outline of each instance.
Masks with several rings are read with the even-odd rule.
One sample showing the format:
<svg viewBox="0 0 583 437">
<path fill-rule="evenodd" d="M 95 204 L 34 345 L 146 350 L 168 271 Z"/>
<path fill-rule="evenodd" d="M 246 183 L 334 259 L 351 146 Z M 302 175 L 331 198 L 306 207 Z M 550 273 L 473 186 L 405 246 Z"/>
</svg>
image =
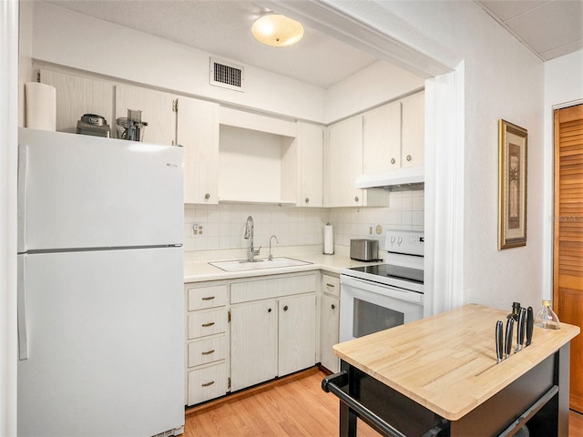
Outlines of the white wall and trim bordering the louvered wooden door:
<svg viewBox="0 0 583 437">
<path fill-rule="evenodd" d="M 553 110 L 583 103 L 583 50 L 557 57 L 545 63 L 545 140 L 544 140 L 544 263 L 543 297 L 550 299 L 553 290 L 553 180 L 554 117 Z"/>
</svg>

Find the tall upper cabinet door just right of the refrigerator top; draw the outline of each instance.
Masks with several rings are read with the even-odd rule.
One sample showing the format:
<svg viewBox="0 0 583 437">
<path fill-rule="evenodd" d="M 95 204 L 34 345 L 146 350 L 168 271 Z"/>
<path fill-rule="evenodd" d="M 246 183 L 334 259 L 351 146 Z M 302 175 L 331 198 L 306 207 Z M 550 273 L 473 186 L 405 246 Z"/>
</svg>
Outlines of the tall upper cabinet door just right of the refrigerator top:
<svg viewBox="0 0 583 437">
<path fill-rule="evenodd" d="M 219 104 L 179 97 L 177 144 L 184 147 L 184 203 L 219 203 Z"/>
</svg>

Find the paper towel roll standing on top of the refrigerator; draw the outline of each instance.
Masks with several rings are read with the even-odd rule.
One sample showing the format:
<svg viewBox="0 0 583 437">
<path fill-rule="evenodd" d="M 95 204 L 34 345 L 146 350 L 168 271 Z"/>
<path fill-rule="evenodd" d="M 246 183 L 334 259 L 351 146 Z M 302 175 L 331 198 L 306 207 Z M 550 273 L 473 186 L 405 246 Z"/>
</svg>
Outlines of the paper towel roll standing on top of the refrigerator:
<svg viewBox="0 0 583 437">
<path fill-rule="evenodd" d="M 56 130 L 56 88 L 38 82 L 25 84 L 26 127 Z"/>
</svg>

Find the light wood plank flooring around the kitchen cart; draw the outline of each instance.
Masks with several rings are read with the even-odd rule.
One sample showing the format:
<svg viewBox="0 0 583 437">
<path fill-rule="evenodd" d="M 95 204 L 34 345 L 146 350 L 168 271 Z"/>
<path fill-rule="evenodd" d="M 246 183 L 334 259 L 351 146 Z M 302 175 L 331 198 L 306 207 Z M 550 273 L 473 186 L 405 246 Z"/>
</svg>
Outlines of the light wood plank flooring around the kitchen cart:
<svg viewBox="0 0 583 437">
<path fill-rule="evenodd" d="M 187 410 L 184 437 L 338 437 L 338 398 L 322 391 L 327 373 L 312 368 Z M 359 421 L 359 437 L 379 434 Z M 583 437 L 570 412 L 569 437 Z"/>
</svg>

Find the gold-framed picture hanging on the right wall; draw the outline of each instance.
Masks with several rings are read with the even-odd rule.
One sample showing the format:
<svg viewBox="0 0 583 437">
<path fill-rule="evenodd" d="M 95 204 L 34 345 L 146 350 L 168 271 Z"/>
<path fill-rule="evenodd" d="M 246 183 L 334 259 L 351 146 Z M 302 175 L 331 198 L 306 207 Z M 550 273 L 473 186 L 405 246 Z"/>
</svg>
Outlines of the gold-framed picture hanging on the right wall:
<svg viewBox="0 0 583 437">
<path fill-rule="evenodd" d="M 527 245 L 527 129 L 498 122 L 498 250 Z"/>
</svg>

